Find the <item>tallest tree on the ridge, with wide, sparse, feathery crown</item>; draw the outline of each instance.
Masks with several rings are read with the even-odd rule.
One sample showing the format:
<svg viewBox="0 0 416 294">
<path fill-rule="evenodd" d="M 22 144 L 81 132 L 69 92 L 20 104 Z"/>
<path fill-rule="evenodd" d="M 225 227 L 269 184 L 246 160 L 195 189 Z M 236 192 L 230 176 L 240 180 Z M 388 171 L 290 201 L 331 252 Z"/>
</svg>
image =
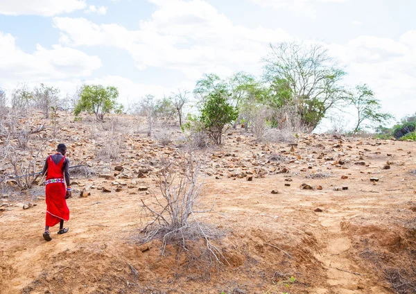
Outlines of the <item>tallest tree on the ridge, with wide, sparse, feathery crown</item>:
<svg viewBox="0 0 416 294">
<path fill-rule="evenodd" d="M 345 101 L 347 95 L 340 85 L 345 71 L 321 44 L 270 44 L 263 62 L 263 76 L 275 94 L 273 103 L 294 105 L 309 131 L 318 126 L 330 108 Z"/>
</svg>

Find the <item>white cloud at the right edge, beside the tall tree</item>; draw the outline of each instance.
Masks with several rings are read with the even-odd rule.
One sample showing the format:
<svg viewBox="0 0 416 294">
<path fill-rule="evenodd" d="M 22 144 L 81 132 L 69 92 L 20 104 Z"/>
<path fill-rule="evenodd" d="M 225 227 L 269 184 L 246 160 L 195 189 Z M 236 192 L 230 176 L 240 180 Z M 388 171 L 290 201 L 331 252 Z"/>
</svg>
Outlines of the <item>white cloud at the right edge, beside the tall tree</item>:
<svg viewBox="0 0 416 294">
<path fill-rule="evenodd" d="M 329 52 L 348 64 L 347 83 L 367 83 L 385 110 L 401 116 L 416 110 L 416 31 L 399 41 L 360 36 L 345 45 L 330 44 Z"/>
</svg>

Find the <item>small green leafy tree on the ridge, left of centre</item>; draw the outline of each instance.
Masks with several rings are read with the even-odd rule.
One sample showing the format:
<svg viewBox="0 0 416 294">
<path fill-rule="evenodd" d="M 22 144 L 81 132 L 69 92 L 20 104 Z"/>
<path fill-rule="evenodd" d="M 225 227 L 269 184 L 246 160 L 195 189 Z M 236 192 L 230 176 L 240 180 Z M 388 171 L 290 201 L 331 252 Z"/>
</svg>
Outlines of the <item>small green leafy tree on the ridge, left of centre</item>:
<svg viewBox="0 0 416 294">
<path fill-rule="evenodd" d="M 94 113 L 99 121 L 103 121 L 105 114 L 110 112 L 121 113 L 123 111 L 123 105 L 116 102 L 118 97 L 119 91 L 116 87 L 85 85 L 73 114 L 78 116 L 81 112 L 86 111 Z"/>
</svg>

